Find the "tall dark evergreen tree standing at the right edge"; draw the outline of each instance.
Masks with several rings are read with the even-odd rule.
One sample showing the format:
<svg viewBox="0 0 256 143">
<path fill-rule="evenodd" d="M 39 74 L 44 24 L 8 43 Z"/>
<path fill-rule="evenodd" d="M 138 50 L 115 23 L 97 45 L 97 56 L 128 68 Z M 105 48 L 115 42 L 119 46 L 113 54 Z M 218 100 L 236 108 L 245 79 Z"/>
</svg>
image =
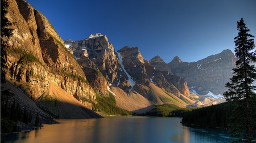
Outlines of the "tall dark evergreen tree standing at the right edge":
<svg viewBox="0 0 256 143">
<path fill-rule="evenodd" d="M 256 62 L 253 51 L 254 36 L 249 34 L 250 29 L 245 26 L 243 18 L 237 21 L 238 36 L 234 38 L 236 45 L 236 68 L 233 68 L 233 77 L 226 83 L 229 89 L 224 93 L 226 101 L 237 103 L 229 119 L 230 137 L 238 137 L 237 141 L 253 142 L 256 137 Z"/>
</svg>

